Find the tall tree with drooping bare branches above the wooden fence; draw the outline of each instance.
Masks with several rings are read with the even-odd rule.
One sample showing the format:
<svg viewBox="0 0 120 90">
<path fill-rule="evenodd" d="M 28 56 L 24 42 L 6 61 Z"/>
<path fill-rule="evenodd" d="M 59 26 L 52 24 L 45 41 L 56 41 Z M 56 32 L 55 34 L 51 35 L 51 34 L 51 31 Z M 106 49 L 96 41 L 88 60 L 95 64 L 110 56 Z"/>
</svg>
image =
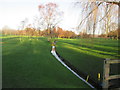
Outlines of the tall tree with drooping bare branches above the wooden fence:
<svg viewBox="0 0 120 90">
<path fill-rule="evenodd" d="M 79 2 L 77 2 L 78 4 Z M 96 27 L 102 25 L 104 28 L 104 33 L 110 31 L 110 24 L 113 23 L 113 17 L 120 17 L 120 14 L 117 15 L 117 5 L 120 10 L 120 2 L 115 0 L 87 0 L 87 2 L 79 3 L 80 6 L 83 6 L 84 17 L 80 21 L 78 28 L 86 25 L 87 31 L 92 32 L 93 37 L 96 31 Z M 104 10 L 103 10 L 104 8 Z M 119 12 L 119 11 L 118 11 Z M 118 17 L 117 17 L 118 18 Z M 120 18 L 119 18 L 120 19 Z M 91 22 L 92 21 L 92 22 Z M 120 21 L 120 20 L 118 20 Z M 99 25 L 98 25 L 99 23 Z M 104 23 L 104 24 L 103 24 Z M 120 24 L 118 25 L 118 30 L 120 30 Z"/>
</svg>

